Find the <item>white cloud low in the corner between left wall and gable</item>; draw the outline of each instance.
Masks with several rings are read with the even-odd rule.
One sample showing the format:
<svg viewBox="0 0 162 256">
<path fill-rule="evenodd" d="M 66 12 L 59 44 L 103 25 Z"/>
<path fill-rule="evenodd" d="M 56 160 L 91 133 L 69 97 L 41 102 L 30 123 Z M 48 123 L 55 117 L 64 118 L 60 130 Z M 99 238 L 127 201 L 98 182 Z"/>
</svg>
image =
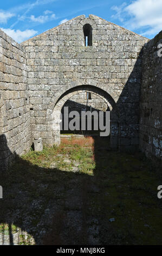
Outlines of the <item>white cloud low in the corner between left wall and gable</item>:
<svg viewBox="0 0 162 256">
<path fill-rule="evenodd" d="M 10 29 L 10 28 L 1 28 L 7 35 L 11 36 L 17 42 L 23 42 L 29 39 L 31 36 L 34 36 L 37 31 L 33 29 L 27 29 L 25 31 L 20 31 L 19 29 Z"/>
</svg>

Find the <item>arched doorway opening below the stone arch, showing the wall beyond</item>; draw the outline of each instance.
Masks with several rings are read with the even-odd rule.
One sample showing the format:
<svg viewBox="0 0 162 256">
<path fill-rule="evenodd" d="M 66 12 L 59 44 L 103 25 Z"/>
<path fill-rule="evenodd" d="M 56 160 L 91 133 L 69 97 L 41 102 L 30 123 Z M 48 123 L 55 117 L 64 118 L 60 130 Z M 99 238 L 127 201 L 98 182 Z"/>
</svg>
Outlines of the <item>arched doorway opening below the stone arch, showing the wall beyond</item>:
<svg viewBox="0 0 162 256">
<path fill-rule="evenodd" d="M 102 132 L 99 119 L 102 119 L 103 125 L 105 126 L 106 111 L 110 111 L 109 107 L 110 105 L 105 98 L 96 93 L 92 93 L 89 90 L 79 90 L 79 92 L 74 92 L 61 109 L 61 133 L 72 133 L 75 134 L 75 136 L 99 135 L 100 132 Z M 67 120 L 69 113 L 71 118 L 69 117 Z M 103 114 L 103 118 L 100 116 L 101 113 Z M 86 120 L 82 120 L 84 116 L 86 117 Z M 64 120 L 67 120 L 68 122 L 65 124 Z M 83 123 L 85 125 L 83 125 Z M 69 127 L 70 124 L 72 124 L 72 127 Z M 67 130 L 67 126 L 69 127 L 69 130 Z"/>
</svg>

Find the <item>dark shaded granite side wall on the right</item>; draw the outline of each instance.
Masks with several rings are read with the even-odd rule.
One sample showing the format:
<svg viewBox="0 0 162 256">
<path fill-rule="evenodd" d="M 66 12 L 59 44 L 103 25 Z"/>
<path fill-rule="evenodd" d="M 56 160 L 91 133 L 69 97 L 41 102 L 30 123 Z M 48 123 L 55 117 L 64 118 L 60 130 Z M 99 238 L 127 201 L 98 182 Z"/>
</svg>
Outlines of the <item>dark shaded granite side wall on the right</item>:
<svg viewBox="0 0 162 256">
<path fill-rule="evenodd" d="M 160 48 L 162 48 L 162 32 L 143 48 L 140 96 L 139 145 L 147 157 L 156 161 L 160 161 L 162 157 L 162 50 L 160 51 Z"/>
</svg>

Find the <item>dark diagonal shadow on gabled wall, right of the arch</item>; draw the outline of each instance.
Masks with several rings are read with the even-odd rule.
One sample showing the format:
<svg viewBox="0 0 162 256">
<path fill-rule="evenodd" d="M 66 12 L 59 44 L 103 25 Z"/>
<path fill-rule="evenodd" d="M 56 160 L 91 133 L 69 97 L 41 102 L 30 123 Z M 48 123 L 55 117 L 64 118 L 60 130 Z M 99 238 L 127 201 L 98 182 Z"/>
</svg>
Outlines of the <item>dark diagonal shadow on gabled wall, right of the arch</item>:
<svg viewBox="0 0 162 256">
<path fill-rule="evenodd" d="M 122 92 L 119 96 L 116 106 L 119 109 L 119 150 L 126 152 L 139 151 L 139 103 L 140 103 L 140 87 L 141 87 L 141 64 L 142 49 L 138 54 L 138 58 L 134 58 L 134 53 L 130 53 L 131 57 L 125 59 L 127 65 L 120 66 L 120 74 L 127 74 L 131 71 L 128 78 L 121 79 Z M 116 60 L 118 62 L 118 60 Z M 122 59 L 119 62 L 122 62 Z M 134 65 L 134 66 L 133 66 Z M 125 82 L 125 80 L 127 80 Z M 125 86 L 123 87 L 123 84 Z M 119 86 L 120 87 L 120 86 Z M 116 88 L 118 90 L 118 88 Z"/>
</svg>

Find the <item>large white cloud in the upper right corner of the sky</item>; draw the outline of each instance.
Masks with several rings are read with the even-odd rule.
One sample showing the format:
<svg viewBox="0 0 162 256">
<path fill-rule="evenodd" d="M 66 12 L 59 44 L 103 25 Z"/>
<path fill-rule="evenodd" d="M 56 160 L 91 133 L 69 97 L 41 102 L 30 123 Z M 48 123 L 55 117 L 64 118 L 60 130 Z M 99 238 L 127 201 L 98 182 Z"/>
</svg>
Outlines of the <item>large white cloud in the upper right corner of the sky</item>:
<svg viewBox="0 0 162 256">
<path fill-rule="evenodd" d="M 116 17 L 129 29 L 141 29 L 142 35 L 154 35 L 162 28 L 162 3 L 161 0 L 135 0 L 119 7 L 113 6 Z"/>
</svg>

